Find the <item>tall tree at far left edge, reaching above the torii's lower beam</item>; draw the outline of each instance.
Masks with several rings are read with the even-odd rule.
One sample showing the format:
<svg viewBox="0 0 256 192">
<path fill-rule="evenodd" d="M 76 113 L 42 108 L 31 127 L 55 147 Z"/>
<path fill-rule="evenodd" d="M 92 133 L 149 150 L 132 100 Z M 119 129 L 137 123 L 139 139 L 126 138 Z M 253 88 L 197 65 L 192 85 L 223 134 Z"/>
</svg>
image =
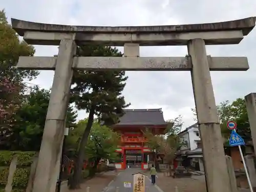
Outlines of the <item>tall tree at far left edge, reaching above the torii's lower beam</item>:
<svg viewBox="0 0 256 192">
<path fill-rule="evenodd" d="M 37 71 L 18 70 L 19 56 L 33 56 L 34 47 L 20 41 L 7 22 L 5 11 L 0 11 L 0 143 L 10 142 L 14 116 L 22 98 L 23 81 L 33 79 Z"/>
</svg>

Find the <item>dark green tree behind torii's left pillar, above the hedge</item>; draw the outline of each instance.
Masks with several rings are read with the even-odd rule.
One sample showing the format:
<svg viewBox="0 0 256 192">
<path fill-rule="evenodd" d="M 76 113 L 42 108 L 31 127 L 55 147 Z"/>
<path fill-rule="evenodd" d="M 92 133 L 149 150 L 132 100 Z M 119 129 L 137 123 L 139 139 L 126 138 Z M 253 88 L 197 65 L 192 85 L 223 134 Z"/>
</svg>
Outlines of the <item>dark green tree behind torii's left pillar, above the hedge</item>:
<svg viewBox="0 0 256 192">
<path fill-rule="evenodd" d="M 24 95 L 20 108 L 15 115 L 13 134 L 9 142 L 2 147 L 6 150 L 39 151 L 46 121 L 50 91 L 34 87 Z M 68 108 L 66 126 L 76 123 L 77 112 Z"/>
</svg>

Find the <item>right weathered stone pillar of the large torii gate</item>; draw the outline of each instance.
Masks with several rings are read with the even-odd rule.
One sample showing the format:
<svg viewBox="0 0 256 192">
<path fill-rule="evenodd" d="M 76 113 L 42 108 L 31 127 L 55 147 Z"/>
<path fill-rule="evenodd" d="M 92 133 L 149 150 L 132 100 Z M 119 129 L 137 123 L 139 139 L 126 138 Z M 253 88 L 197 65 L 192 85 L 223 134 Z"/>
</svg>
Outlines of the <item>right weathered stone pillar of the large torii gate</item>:
<svg viewBox="0 0 256 192">
<path fill-rule="evenodd" d="M 228 170 L 205 42 L 203 39 L 192 39 L 189 40 L 187 47 L 193 65 L 191 78 L 203 145 L 208 192 L 230 192 Z"/>
</svg>

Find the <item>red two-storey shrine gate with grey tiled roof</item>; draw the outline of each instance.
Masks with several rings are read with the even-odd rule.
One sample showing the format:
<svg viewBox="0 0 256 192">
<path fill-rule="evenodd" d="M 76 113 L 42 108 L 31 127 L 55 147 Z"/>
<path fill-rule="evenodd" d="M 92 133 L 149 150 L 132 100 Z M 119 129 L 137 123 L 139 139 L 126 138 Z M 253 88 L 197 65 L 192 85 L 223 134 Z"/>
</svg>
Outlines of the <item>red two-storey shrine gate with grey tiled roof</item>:
<svg viewBox="0 0 256 192">
<path fill-rule="evenodd" d="M 124 110 L 120 122 L 112 129 L 121 135 L 121 145 L 116 152 L 119 159 L 115 162 L 118 169 L 127 167 L 148 168 L 148 162 L 154 161 L 154 149 L 147 145 L 143 130 L 151 130 L 153 134 L 164 134 L 167 127 L 161 109 Z"/>
</svg>

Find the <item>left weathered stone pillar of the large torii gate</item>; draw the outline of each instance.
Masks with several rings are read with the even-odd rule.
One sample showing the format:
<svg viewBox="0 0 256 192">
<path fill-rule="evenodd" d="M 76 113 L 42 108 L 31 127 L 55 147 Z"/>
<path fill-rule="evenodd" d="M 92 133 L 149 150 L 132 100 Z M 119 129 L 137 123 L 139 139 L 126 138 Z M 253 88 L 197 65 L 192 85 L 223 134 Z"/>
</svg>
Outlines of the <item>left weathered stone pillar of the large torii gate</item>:
<svg viewBox="0 0 256 192">
<path fill-rule="evenodd" d="M 60 41 L 33 192 L 55 192 L 56 166 L 59 166 L 57 164 L 59 163 L 61 143 L 65 131 L 75 51 L 76 45 L 72 35 L 70 39 Z"/>
</svg>

